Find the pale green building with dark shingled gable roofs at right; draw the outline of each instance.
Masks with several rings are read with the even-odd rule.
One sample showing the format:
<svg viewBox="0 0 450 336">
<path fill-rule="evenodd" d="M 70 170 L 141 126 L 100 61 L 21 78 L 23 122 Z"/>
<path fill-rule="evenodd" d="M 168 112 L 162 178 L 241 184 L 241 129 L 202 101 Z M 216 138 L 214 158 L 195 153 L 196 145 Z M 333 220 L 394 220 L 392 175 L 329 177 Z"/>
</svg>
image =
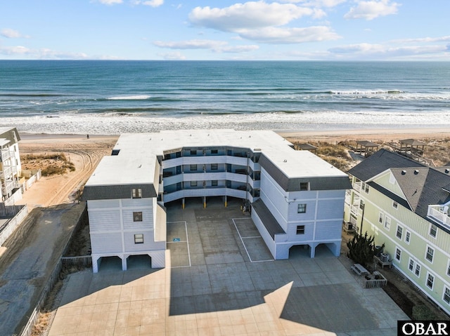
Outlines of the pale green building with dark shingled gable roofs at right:
<svg viewBox="0 0 450 336">
<path fill-rule="evenodd" d="M 384 243 L 393 266 L 450 314 L 450 167 L 380 149 L 348 173 L 345 220 Z"/>
</svg>

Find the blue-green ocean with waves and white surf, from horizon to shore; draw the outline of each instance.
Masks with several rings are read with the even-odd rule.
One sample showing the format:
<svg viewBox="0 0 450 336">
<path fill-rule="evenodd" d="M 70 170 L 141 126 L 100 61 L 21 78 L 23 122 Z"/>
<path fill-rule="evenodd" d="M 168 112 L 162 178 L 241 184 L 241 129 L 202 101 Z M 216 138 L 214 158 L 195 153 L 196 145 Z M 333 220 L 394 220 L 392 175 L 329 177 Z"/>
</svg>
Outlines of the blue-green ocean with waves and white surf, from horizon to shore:
<svg viewBox="0 0 450 336">
<path fill-rule="evenodd" d="M 0 127 L 450 130 L 450 62 L 0 60 Z"/>
</svg>

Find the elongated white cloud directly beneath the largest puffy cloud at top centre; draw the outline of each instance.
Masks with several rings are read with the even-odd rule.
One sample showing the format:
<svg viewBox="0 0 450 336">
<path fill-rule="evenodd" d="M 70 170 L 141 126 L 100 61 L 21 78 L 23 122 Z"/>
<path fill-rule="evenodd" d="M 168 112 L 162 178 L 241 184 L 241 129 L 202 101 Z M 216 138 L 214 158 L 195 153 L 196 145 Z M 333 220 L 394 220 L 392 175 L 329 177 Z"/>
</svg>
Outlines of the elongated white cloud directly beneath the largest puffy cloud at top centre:
<svg viewBox="0 0 450 336">
<path fill-rule="evenodd" d="M 317 26 L 307 28 L 278 28 L 267 27 L 241 31 L 240 36 L 245 39 L 263 43 L 304 43 L 340 39 L 340 36 L 329 27 Z"/>
</svg>

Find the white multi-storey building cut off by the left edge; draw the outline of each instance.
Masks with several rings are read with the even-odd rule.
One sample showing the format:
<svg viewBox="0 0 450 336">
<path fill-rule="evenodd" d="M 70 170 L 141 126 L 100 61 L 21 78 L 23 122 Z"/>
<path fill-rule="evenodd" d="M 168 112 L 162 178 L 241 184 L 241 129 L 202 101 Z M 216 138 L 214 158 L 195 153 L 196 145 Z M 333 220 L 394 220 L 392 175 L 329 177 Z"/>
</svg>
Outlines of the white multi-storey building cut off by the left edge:
<svg viewBox="0 0 450 336">
<path fill-rule="evenodd" d="M 6 201 L 15 191 L 20 192 L 19 141 L 16 128 L 0 128 L 0 201 Z"/>
</svg>

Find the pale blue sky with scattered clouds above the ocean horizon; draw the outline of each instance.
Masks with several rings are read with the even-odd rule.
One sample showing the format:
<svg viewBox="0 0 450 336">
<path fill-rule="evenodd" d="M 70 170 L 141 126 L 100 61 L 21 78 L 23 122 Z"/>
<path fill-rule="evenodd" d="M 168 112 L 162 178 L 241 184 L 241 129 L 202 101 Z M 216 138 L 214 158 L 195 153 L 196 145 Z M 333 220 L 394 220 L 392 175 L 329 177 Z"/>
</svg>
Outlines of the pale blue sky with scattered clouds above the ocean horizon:
<svg viewBox="0 0 450 336">
<path fill-rule="evenodd" d="M 0 59 L 450 60 L 450 0 L 2 0 Z"/>
</svg>

